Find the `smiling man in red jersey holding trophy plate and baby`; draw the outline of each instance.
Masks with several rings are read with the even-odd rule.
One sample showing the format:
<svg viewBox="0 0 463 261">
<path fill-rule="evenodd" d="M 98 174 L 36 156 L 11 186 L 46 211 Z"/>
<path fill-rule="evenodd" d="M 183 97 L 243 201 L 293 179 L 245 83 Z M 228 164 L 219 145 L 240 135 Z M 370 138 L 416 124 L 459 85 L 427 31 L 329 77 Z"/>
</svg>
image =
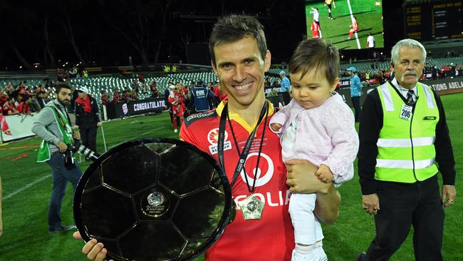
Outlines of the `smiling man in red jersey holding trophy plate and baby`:
<svg viewBox="0 0 463 261">
<path fill-rule="evenodd" d="M 285 165 L 281 160 L 279 137 L 269 129 L 274 107 L 265 99 L 264 72 L 269 70 L 271 54 L 259 21 L 236 15 L 219 19 L 212 30 L 209 50 L 212 68 L 229 99 L 214 111 L 189 116 L 180 138 L 209 153 L 223 166 L 237 205 L 254 197 L 264 203 L 264 209 L 259 219 L 251 220 L 238 210 L 235 220 L 207 250 L 205 260 L 291 260 L 291 192 L 317 193 L 315 213 L 324 222 L 334 222 L 338 217 L 339 194 L 331 183 L 316 178 L 316 167 L 308 161 L 288 160 Z M 243 155 L 246 161 L 239 170 L 237 163 Z M 241 205 L 241 209 L 249 210 L 249 205 Z M 81 238 L 78 232 L 74 237 Z M 107 253 L 96 240 L 88 241 L 82 251 L 88 259 L 98 261 Z"/>
</svg>

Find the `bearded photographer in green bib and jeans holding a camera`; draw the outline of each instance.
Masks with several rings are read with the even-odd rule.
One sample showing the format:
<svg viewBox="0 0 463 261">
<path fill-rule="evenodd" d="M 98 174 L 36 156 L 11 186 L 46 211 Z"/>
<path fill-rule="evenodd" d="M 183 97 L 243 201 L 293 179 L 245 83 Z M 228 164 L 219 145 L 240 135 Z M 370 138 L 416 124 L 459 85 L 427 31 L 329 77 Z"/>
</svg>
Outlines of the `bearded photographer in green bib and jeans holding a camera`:
<svg viewBox="0 0 463 261">
<path fill-rule="evenodd" d="M 80 133 L 73 133 L 67 106 L 71 102 L 71 88 L 67 83 L 56 85 L 55 100 L 46 104 L 35 118 L 32 132 L 43 138 L 38 149 L 37 162 L 47 162 L 51 167 L 53 188 L 48 206 L 48 230 L 58 232 L 71 230 L 75 226 L 61 225 L 60 210 L 68 181 L 76 190 L 82 172 L 73 160 L 69 147 Z"/>
</svg>

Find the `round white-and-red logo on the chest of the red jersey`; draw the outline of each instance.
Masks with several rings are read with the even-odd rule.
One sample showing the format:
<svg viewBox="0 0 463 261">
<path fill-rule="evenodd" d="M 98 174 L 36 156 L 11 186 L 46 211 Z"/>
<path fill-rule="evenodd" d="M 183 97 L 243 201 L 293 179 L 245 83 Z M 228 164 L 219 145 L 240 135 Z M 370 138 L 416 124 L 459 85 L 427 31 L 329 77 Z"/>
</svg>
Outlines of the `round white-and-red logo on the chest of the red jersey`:
<svg viewBox="0 0 463 261">
<path fill-rule="evenodd" d="M 254 177 L 257 177 L 256 187 L 265 185 L 271 180 L 271 177 L 274 175 L 274 162 L 271 161 L 269 155 L 266 155 L 265 153 L 261 153 L 259 168 L 256 169 L 256 162 L 258 156 L 259 153 L 249 153 L 249 155 L 246 158 L 246 163 L 244 163 L 244 169 L 246 169 L 246 173 L 244 173 L 244 170 L 241 170 L 240 173 L 241 179 L 244 183 L 246 183 L 244 175 L 247 175 L 248 180 L 254 180 Z M 249 170 L 252 170 L 252 172 Z M 250 173 L 252 173 L 253 175 L 250 176 Z"/>
</svg>

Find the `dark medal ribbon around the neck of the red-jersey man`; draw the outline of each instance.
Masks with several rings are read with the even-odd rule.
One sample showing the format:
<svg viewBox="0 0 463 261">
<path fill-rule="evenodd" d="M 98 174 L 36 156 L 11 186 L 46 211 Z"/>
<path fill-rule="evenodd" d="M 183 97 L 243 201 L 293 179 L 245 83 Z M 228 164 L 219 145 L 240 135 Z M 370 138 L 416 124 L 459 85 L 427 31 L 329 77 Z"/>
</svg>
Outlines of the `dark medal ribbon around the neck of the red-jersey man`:
<svg viewBox="0 0 463 261">
<path fill-rule="evenodd" d="M 251 132 L 251 134 L 248 137 L 248 140 L 246 140 L 246 144 L 244 145 L 243 152 L 239 153 L 239 148 L 238 148 L 238 143 L 236 142 L 236 138 L 234 135 L 233 128 L 231 127 L 231 122 L 228 116 L 228 103 L 225 104 L 224 109 L 222 110 L 222 114 L 220 115 L 220 124 L 219 124 L 219 141 L 217 143 L 217 154 L 219 157 L 219 165 L 224 170 L 225 172 L 225 166 L 224 166 L 224 139 L 225 139 L 225 126 L 227 124 L 227 118 L 229 121 L 229 126 L 231 129 L 231 134 L 233 135 L 234 138 L 234 143 L 236 145 L 236 150 L 238 150 L 238 155 L 239 155 L 239 160 L 238 163 L 236 164 L 236 168 L 234 171 L 233 178 L 231 180 L 231 187 L 233 187 L 234 183 L 236 182 L 236 178 L 238 178 L 239 173 L 241 173 L 241 170 L 244 168 L 244 163 L 246 162 L 246 158 L 249 154 L 249 150 L 251 149 L 252 141 L 254 140 L 254 135 L 256 135 L 257 128 L 259 128 L 259 124 L 261 123 L 262 119 L 265 118 L 265 126 L 264 126 L 264 131 L 262 131 L 262 138 L 261 138 L 261 144 L 259 147 L 259 155 L 257 158 L 257 166 L 256 166 L 256 171 L 259 167 L 259 158 L 261 156 L 261 150 L 262 150 L 262 143 L 264 143 L 264 133 L 265 133 L 265 128 L 267 124 L 267 118 L 269 117 L 269 106 L 267 105 L 267 102 L 264 103 L 264 106 L 262 107 L 261 110 L 261 115 L 259 116 L 259 121 L 256 124 L 256 127 L 254 127 L 254 130 Z M 246 179 L 246 185 L 248 185 L 248 190 L 249 193 L 252 193 L 254 191 L 255 185 L 256 185 L 256 175 L 254 175 L 254 183 L 252 184 L 252 189 L 249 189 L 249 182 L 247 180 L 247 175 L 244 175 L 244 178 Z"/>
</svg>

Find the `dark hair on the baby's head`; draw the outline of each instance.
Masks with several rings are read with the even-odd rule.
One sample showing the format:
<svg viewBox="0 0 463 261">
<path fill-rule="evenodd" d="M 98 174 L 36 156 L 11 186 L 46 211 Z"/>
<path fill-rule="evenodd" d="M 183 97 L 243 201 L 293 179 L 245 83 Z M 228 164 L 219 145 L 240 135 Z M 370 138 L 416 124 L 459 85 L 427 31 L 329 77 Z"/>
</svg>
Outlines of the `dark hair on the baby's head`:
<svg viewBox="0 0 463 261">
<path fill-rule="evenodd" d="M 302 72 L 302 78 L 312 70 L 324 70 L 328 83 L 335 83 L 339 77 L 338 48 L 319 38 L 302 40 L 289 60 L 288 71 L 292 74 Z"/>
</svg>

